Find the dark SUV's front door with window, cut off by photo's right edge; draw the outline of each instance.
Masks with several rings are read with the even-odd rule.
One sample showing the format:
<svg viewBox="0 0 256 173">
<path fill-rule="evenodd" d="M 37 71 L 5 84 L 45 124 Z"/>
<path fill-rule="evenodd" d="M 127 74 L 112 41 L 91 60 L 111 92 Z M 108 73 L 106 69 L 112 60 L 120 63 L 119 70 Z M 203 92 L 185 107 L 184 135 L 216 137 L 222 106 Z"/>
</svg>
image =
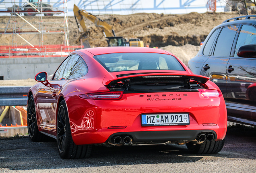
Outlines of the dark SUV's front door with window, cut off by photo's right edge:
<svg viewBox="0 0 256 173">
<path fill-rule="evenodd" d="M 232 109 L 235 110 L 232 112 L 233 115 L 240 115 L 239 117 L 256 121 L 256 110 L 254 110 L 254 114 L 245 115 L 246 112 L 240 114 L 237 111 L 241 109 L 235 109 L 235 107 L 254 109 L 256 105 L 256 58 L 237 56 L 238 48 L 247 44 L 256 44 L 256 27 L 243 24 L 232 53 L 233 57 L 230 58 L 227 64 L 226 100 L 229 101 L 227 107 L 232 106 Z M 254 106 L 254 108 L 250 108 L 250 106 Z"/>
</svg>

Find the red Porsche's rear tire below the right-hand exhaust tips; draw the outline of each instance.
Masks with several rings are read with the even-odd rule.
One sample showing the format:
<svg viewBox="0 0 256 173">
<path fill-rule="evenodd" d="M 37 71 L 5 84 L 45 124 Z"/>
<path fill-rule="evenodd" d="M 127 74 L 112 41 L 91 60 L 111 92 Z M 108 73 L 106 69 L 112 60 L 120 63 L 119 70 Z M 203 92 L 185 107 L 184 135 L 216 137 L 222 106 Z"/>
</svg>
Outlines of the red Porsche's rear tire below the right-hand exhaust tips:
<svg viewBox="0 0 256 173">
<path fill-rule="evenodd" d="M 225 139 L 222 141 L 204 141 L 201 144 L 187 143 L 188 150 L 194 154 L 219 153 L 223 148 Z"/>
</svg>

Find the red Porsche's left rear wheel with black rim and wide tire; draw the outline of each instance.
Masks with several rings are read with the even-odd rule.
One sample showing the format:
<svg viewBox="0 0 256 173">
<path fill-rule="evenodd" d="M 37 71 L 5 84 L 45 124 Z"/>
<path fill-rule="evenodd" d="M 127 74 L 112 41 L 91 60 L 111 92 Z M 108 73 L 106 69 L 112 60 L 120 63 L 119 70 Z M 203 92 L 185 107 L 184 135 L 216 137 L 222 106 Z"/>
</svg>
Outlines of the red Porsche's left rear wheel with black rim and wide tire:
<svg viewBox="0 0 256 173">
<path fill-rule="evenodd" d="M 91 145 L 75 145 L 72 140 L 68 110 L 64 100 L 60 102 L 57 117 L 58 152 L 63 159 L 82 159 L 91 154 Z"/>
</svg>

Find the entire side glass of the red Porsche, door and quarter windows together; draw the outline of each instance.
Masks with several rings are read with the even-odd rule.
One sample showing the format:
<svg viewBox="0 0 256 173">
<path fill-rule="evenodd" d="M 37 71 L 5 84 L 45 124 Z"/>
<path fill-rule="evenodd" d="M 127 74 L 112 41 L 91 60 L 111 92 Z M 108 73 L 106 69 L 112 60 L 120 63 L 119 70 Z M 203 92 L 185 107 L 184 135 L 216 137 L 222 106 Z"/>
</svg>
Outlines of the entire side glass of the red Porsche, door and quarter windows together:
<svg viewBox="0 0 256 173">
<path fill-rule="evenodd" d="M 87 74 L 88 68 L 82 58 L 71 55 L 60 65 L 55 73 L 54 80 L 72 79 Z"/>
</svg>

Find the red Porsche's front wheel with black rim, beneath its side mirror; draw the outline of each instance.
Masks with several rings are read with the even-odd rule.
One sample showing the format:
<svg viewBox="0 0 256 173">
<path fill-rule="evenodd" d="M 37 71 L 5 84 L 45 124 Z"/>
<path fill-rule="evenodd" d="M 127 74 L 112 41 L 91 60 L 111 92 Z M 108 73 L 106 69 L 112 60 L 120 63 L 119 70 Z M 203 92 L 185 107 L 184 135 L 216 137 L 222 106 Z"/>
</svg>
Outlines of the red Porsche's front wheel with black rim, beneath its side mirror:
<svg viewBox="0 0 256 173">
<path fill-rule="evenodd" d="M 33 95 L 29 97 L 29 103 L 27 105 L 27 130 L 31 141 L 46 141 L 49 138 L 46 135 L 40 133 L 38 130 L 35 101 Z"/>
</svg>

